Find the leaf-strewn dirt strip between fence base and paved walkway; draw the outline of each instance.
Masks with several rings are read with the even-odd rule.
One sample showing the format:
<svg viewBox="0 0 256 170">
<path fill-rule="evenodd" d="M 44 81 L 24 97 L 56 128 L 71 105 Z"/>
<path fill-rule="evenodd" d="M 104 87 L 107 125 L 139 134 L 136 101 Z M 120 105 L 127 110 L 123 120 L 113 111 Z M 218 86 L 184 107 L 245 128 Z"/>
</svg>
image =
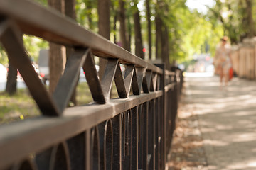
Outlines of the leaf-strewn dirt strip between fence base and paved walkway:
<svg viewBox="0 0 256 170">
<path fill-rule="evenodd" d="M 169 170 L 207 169 L 198 118 L 193 114 L 193 107 L 186 100 L 183 95 L 176 120 Z"/>
</svg>

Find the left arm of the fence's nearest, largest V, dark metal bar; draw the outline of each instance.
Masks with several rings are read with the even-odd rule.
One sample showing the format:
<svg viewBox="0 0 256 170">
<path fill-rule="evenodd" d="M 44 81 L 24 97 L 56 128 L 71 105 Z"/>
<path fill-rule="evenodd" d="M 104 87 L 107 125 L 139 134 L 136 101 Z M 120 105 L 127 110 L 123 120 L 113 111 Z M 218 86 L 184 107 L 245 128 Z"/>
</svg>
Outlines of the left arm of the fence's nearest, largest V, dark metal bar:
<svg viewBox="0 0 256 170">
<path fill-rule="evenodd" d="M 60 115 L 58 107 L 53 98 L 46 90 L 38 74 L 32 67 L 31 60 L 23 46 L 22 33 L 18 26 L 10 20 L 2 21 L 0 25 L 0 41 L 4 45 L 9 62 L 18 69 L 23 80 L 36 101 L 43 115 Z"/>
</svg>

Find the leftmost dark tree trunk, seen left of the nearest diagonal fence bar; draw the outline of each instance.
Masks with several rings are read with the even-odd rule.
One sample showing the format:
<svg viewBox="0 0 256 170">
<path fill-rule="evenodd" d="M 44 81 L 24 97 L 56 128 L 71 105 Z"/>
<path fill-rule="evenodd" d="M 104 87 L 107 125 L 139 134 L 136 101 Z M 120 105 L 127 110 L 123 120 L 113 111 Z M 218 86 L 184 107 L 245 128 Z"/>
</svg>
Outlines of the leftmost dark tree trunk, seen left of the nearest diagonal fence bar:
<svg viewBox="0 0 256 170">
<path fill-rule="evenodd" d="M 9 69 L 6 82 L 6 93 L 9 95 L 15 94 L 17 91 L 17 69 L 9 62 Z"/>
</svg>

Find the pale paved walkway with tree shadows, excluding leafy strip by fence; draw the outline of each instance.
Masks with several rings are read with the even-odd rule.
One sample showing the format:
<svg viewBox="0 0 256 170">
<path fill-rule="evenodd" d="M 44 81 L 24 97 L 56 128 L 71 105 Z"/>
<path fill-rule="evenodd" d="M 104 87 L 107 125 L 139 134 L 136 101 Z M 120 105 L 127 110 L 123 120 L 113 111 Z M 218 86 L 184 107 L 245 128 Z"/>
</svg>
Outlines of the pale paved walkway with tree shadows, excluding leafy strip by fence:
<svg viewBox="0 0 256 170">
<path fill-rule="evenodd" d="M 203 136 L 208 169 L 256 169 L 256 81 L 186 77 L 185 97 Z"/>
</svg>

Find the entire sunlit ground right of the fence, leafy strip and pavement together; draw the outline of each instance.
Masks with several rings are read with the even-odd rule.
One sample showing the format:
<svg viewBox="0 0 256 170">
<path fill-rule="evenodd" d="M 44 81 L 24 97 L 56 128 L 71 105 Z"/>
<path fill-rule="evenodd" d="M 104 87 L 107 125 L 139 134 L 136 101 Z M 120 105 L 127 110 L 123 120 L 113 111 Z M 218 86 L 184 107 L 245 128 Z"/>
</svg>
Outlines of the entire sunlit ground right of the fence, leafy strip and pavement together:
<svg viewBox="0 0 256 170">
<path fill-rule="evenodd" d="M 255 170 L 256 81 L 186 77 L 183 90 L 169 170 Z"/>
</svg>

